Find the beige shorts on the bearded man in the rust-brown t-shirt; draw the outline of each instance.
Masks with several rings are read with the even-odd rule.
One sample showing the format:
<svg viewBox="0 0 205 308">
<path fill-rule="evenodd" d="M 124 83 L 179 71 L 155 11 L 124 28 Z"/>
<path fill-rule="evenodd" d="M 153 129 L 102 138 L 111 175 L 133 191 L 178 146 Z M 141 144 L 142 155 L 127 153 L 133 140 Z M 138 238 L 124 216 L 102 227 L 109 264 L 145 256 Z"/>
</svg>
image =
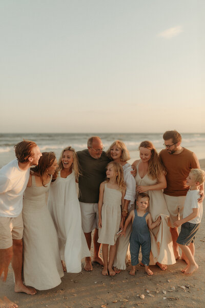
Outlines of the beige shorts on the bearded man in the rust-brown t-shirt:
<svg viewBox="0 0 205 308">
<path fill-rule="evenodd" d="M 178 214 L 180 219 L 183 218 L 183 205 L 185 204 L 185 199 L 186 196 L 179 196 L 179 197 L 174 197 L 174 196 L 168 196 L 165 195 L 165 200 L 167 203 L 167 208 L 170 213 L 170 222 L 172 225 L 172 228 L 174 228 L 174 222 L 178 220 Z"/>
</svg>

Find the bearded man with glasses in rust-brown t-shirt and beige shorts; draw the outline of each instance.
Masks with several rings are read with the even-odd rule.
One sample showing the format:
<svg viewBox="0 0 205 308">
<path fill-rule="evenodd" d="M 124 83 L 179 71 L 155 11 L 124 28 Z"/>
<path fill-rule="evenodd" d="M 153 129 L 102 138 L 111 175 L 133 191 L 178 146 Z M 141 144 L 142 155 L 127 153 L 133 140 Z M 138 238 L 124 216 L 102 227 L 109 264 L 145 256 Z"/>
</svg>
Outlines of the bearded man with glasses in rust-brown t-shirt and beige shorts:
<svg viewBox="0 0 205 308">
<path fill-rule="evenodd" d="M 195 153 L 181 146 L 181 135 L 176 130 L 168 130 L 163 134 L 163 144 L 166 149 L 159 153 L 162 164 L 166 169 L 167 188 L 163 190 L 167 207 L 170 213 L 171 227 L 170 231 L 173 240 L 173 249 L 176 260 L 179 259 L 179 248 L 176 243 L 178 238 L 178 228 L 174 226 L 174 222 L 178 220 L 178 215 L 182 219 L 183 204 L 189 186 L 187 185 L 187 177 L 192 168 L 200 168 L 198 159 Z M 204 198 L 203 185 L 200 186 L 202 202 Z M 191 251 L 193 250 L 192 243 L 190 244 Z M 181 256 L 184 259 L 184 256 Z"/>
</svg>

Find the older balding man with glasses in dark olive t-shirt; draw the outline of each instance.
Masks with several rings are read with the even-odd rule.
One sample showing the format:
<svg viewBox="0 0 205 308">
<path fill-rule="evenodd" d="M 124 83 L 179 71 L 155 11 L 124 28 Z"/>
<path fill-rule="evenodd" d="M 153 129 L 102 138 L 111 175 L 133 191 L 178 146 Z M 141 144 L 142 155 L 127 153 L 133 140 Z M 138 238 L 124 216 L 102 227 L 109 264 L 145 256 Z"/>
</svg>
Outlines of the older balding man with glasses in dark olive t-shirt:
<svg viewBox="0 0 205 308">
<path fill-rule="evenodd" d="M 81 176 L 79 177 L 80 208 L 82 228 L 85 233 L 89 249 L 91 248 L 91 233 L 95 229 L 93 261 L 103 265 L 99 257 L 100 244 L 98 240 L 98 199 L 99 185 L 105 180 L 106 166 L 110 159 L 106 156 L 101 139 L 93 136 L 88 139 L 88 149 L 77 152 Z M 86 258 L 86 271 L 92 271 L 91 258 Z"/>
</svg>

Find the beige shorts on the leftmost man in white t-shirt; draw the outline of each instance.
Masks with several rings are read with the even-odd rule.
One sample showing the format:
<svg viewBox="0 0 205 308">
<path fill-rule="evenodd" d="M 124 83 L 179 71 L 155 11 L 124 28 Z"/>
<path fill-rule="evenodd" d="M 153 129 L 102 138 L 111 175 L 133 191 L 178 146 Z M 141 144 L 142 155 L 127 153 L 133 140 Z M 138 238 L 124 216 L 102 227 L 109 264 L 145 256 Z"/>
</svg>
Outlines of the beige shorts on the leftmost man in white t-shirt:
<svg viewBox="0 0 205 308">
<path fill-rule="evenodd" d="M 0 249 L 11 247 L 12 240 L 21 240 L 23 231 L 22 213 L 17 217 L 0 217 Z"/>
</svg>

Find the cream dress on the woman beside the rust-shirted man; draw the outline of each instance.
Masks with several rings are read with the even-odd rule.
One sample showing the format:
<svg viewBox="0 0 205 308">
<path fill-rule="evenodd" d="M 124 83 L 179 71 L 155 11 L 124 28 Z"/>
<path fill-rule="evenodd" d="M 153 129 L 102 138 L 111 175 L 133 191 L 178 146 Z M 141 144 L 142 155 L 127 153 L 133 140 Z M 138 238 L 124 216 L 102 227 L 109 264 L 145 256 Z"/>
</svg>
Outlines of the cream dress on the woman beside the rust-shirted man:
<svg viewBox="0 0 205 308">
<path fill-rule="evenodd" d="M 157 184 L 157 180 L 152 180 L 148 174 L 146 174 L 144 178 L 140 178 L 138 165 L 136 167 L 137 174 L 135 176 L 137 186 Z M 150 265 L 154 265 L 156 262 L 167 265 L 174 264 L 176 260 L 173 251 L 172 236 L 168 226 L 169 211 L 167 209 L 165 197 L 163 196 L 162 190 L 148 190 L 146 193 L 150 197 L 148 210 L 151 214 L 152 221 L 154 222 L 161 216 L 161 223 L 156 228 L 150 230 Z"/>
</svg>

